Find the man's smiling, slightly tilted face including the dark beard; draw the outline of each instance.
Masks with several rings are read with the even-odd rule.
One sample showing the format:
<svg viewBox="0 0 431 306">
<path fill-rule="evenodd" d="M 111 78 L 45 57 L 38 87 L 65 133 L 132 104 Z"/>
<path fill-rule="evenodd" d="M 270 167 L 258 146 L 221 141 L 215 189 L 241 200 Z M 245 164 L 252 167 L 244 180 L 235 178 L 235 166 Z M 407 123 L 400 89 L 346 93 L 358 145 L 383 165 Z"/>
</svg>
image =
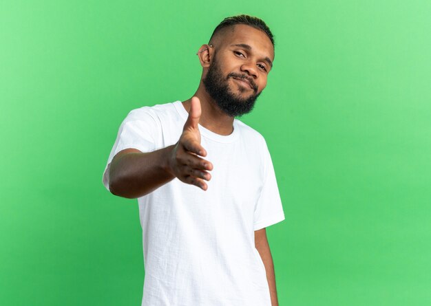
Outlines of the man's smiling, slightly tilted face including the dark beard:
<svg viewBox="0 0 431 306">
<path fill-rule="evenodd" d="M 202 82 L 222 111 L 242 116 L 266 87 L 273 45 L 264 32 L 248 25 L 235 25 L 219 42 Z"/>
</svg>

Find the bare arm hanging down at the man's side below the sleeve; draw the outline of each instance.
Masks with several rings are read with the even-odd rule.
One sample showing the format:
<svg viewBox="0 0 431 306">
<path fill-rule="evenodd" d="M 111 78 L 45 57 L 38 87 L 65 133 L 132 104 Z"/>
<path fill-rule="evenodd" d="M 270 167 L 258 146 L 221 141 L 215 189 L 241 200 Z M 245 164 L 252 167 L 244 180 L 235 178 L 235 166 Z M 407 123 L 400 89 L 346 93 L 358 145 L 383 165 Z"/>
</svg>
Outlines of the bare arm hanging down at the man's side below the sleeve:
<svg viewBox="0 0 431 306">
<path fill-rule="evenodd" d="M 265 265 L 266 279 L 268 280 L 269 293 L 271 294 L 271 305 L 278 306 L 274 263 L 273 257 L 271 256 L 271 250 L 269 249 L 268 239 L 266 238 L 266 228 L 255 230 L 255 247 Z"/>
</svg>

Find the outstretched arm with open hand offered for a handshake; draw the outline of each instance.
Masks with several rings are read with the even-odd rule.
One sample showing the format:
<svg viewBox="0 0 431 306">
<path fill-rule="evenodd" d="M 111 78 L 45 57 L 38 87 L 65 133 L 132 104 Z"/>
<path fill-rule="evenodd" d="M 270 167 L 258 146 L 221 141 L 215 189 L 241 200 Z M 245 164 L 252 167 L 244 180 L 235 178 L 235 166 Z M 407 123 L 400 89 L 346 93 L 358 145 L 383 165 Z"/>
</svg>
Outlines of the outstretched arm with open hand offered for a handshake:
<svg viewBox="0 0 431 306">
<path fill-rule="evenodd" d="M 149 153 L 132 148 L 118 152 L 109 167 L 111 193 L 134 199 L 151 193 L 175 177 L 207 190 L 204 180 L 211 179 L 208 171 L 213 165 L 200 157 L 207 155 L 200 145 L 198 123 L 201 112 L 200 100 L 193 96 L 189 117 L 180 140 L 174 145 Z"/>
</svg>

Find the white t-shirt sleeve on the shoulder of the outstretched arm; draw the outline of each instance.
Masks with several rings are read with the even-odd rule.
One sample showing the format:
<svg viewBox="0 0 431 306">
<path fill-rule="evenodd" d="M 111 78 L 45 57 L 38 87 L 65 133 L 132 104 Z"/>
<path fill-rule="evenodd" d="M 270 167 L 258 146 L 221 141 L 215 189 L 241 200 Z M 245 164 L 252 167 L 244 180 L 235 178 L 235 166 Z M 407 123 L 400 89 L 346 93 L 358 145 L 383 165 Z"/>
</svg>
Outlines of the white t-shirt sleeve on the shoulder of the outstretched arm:
<svg viewBox="0 0 431 306">
<path fill-rule="evenodd" d="M 151 152 L 156 149 L 159 127 L 154 113 L 149 107 L 141 107 L 130 111 L 118 129 L 117 138 L 103 171 L 102 182 L 109 190 L 109 166 L 116 153 L 124 149 L 138 149 L 141 152 Z"/>
</svg>

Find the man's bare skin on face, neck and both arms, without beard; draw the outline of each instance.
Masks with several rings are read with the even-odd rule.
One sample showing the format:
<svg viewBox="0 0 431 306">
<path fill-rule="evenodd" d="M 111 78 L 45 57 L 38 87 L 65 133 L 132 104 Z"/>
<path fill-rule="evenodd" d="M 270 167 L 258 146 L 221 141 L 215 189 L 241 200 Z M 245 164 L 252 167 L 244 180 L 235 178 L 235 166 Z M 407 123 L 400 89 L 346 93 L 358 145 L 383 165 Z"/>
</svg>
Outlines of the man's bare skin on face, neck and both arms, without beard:
<svg viewBox="0 0 431 306">
<path fill-rule="evenodd" d="M 233 131 L 234 120 L 217 107 L 202 83 L 215 50 L 224 76 L 241 74 L 251 82 L 250 87 L 241 80 L 229 78 L 229 87 L 235 94 L 246 98 L 266 87 L 274 60 L 274 48 L 264 32 L 249 25 L 235 25 L 214 36 L 209 44 L 202 45 L 198 50 L 202 76 L 196 93 L 182 102 L 189 117 L 180 139 L 176 144 L 150 153 L 137 149 L 118 152 L 109 166 L 109 190 L 114 195 L 129 199 L 142 197 L 175 177 L 185 184 L 207 190 L 205 181 L 211 179 L 209 171 L 213 169 L 213 164 L 204 159 L 207 151 L 200 145 L 198 124 L 214 133 L 229 135 Z M 278 305 L 273 259 L 265 228 L 255 231 L 255 248 L 265 266 L 271 304 Z"/>
</svg>

